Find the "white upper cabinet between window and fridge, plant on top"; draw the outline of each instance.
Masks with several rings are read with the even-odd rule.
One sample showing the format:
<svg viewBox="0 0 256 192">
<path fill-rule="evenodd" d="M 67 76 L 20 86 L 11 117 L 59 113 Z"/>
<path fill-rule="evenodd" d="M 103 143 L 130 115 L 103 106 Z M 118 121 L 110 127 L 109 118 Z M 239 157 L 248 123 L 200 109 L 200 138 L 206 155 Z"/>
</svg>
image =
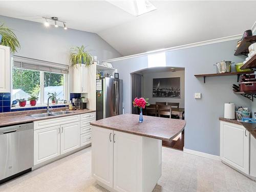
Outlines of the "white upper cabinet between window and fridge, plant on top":
<svg viewBox="0 0 256 192">
<path fill-rule="evenodd" d="M 88 68 L 77 64 L 73 67 L 73 93 L 88 93 Z"/>
</svg>

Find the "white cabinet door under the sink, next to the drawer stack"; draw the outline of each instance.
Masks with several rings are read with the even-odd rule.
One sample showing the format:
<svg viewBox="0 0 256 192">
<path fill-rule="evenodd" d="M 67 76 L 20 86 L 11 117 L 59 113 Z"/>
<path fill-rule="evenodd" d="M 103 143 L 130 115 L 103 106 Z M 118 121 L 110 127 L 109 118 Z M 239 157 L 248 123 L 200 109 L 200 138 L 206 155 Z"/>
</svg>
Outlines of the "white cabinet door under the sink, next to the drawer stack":
<svg viewBox="0 0 256 192">
<path fill-rule="evenodd" d="M 80 122 L 60 126 L 60 154 L 65 154 L 80 147 Z"/>
</svg>

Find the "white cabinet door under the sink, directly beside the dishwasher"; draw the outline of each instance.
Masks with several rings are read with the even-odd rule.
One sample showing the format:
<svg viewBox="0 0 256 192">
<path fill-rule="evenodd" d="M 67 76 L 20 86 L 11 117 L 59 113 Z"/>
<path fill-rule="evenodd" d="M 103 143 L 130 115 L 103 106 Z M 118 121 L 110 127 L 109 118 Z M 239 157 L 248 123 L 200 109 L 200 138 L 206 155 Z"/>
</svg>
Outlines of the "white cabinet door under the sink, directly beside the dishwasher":
<svg viewBox="0 0 256 192">
<path fill-rule="evenodd" d="M 60 126 L 34 131 L 34 165 L 60 155 Z"/>
</svg>

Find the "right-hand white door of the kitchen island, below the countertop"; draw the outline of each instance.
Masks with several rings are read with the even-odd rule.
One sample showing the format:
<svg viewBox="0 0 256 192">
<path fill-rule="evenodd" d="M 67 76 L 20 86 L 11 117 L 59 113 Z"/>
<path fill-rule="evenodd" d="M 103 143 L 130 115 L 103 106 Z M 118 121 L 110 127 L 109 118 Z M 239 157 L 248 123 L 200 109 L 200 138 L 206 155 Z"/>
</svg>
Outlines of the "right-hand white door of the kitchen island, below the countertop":
<svg viewBox="0 0 256 192">
<path fill-rule="evenodd" d="M 114 131 L 114 189 L 142 191 L 143 137 Z"/>
</svg>

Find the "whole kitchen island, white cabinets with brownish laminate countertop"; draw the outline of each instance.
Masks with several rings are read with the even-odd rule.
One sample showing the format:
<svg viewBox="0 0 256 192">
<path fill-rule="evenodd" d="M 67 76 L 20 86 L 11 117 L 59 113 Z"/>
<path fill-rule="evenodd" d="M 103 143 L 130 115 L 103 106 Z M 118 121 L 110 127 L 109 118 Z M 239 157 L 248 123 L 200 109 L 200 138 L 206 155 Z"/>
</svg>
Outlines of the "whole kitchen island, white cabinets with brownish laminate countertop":
<svg viewBox="0 0 256 192">
<path fill-rule="evenodd" d="M 162 140 L 171 141 L 185 121 L 123 114 L 91 123 L 92 176 L 110 191 L 152 191 L 161 176 Z"/>
</svg>

